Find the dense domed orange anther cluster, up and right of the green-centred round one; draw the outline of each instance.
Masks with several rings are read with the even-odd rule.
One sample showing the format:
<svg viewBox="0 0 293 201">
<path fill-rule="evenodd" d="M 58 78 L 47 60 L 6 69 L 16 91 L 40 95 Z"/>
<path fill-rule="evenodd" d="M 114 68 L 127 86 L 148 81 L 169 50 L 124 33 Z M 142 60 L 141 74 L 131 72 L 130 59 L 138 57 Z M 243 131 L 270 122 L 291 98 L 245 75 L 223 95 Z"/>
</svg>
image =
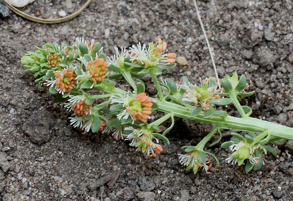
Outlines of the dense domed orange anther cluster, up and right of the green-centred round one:
<svg viewBox="0 0 293 201">
<path fill-rule="evenodd" d="M 101 82 L 106 77 L 108 65 L 103 58 L 97 58 L 94 61 L 89 61 L 87 71 L 90 72 L 91 80 L 93 82 Z"/>
</svg>

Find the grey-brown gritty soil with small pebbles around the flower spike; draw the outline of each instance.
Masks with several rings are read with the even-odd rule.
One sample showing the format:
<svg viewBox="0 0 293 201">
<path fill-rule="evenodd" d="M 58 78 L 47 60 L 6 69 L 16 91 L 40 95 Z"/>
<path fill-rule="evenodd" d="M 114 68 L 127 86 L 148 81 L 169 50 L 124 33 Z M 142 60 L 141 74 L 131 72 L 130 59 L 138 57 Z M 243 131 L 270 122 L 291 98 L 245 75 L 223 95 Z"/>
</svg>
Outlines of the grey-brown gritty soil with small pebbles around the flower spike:
<svg viewBox="0 0 293 201">
<path fill-rule="evenodd" d="M 61 10 L 68 15 L 84 2 L 36 0 L 21 10 L 57 18 Z M 244 73 L 250 90 L 257 92 L 243 100 L 253 116 L 292 127 L 292 1 L 211 0 L 198 6 L 219 76 Z M 0 18 L 0 200 L 293 200 L 293 162 L 285 153 L 293 154 L 292 142 L 279 147 L 278 158 L 268 154 L 266 164 L 249 173 L 227 164 L 228 150 L 218 144 L 208 151 L 221 165 L 213 161 L 211 174 L 201 170 L 194 175 L 180 165 L 177 154 L 183 154 L 181 146 L 198 142 L 207 125 L 176 121 L 168 135 L 171 145 L 163 144 L 155 158 L 111 134 L 81 135 L 73 129 L 70 114 L 23 72 L 20 58 L 34 51 L 34 45 L 72 45 L 76 37 L 101 42 L 108 56 L 115 46 L 162 38 L 169 52 L 188 60 L 188 65 L 164 71 L 163 77 L 188 75 L 197 82 L 215 76 L 191 0 L 93 0 L 77 18 L 52 25 L 14 13 Z M 142 79 L 154 96 L 150 77 Z M 122 81 L 118 86 L 129 88 Z M 225 135 L 221 142 L 227 140 Z"/>
</svg>

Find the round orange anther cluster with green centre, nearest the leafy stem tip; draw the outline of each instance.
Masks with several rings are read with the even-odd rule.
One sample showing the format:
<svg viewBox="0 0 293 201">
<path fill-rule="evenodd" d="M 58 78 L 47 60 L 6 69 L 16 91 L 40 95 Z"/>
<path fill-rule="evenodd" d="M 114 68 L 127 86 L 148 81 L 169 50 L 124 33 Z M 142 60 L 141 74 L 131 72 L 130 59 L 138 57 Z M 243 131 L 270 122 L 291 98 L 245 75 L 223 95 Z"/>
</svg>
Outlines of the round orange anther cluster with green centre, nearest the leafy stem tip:
<svg viewBox="0 0 293 201">
<path fill-rule="evenodd" d="M 70 92 L 77 81 L 76 74 L 71 68 L 65 70 L 64 72 L 62 72 L 62 74 L 60 73 L 60 71 L 56 71 L 54 73 L 54 76 L 57 79 L 59 78 L 59 80 L 57 80 L 55 83 L 56 88 L 61 89 L 63 93 Z"/>
</svg>

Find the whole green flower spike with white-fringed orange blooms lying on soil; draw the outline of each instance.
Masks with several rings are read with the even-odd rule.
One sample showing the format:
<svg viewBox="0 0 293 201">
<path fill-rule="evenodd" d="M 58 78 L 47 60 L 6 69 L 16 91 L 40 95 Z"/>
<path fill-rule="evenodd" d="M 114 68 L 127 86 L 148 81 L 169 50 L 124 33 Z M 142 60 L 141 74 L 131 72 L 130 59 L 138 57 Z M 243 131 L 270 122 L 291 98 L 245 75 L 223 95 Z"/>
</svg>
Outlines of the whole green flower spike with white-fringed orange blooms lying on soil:
<svg viewBox="0 0 293 201">
<path fill-rule="evenodd" d="M 212 166 L 212 158 L 219 164 L 217 157 L 205 150 L 206 144 L 219 133 L 220 137 L 210 146 L 221 141 L 221 129 L 248 132 L 242 136 L 232 133 L 230 142 L 224 142 L 222 148 L 232 153 L 227 162 L 241 166 L 246 162 L 246 171 L 258 170 L 265 163 L 265 155 L 270 152 L 277 155 L 269 145 L 271 142 L 284 143 L 293 140 L 293 129 L 286 126 L 249 117 L 252 110 L 241 106 L 239 96 L 251 96 L 246 92 L 246 77 L 226 76 L 217 83 L 213 79 L 204 79 L 199 84 L 191 83 L 186 76 L 181 81 L 158 76 L 161 70 L 176 66 L 176 54 L 166 53 L 167 43 L 158 39 L 155 43 L 138 43 L 126 48 L 114 47 L 115 55 L 103 52 L 100 43 L 84 38 L 76 38 L 76 44 L 66 46 L 57 43 L 36 47 L 35 52 L 27 52 L 21 63 L 34 74 L 35 82 L 47 92 L 56 94 L 55 103 L 61 103 L 64 109 L 72 112 L 71 125 L 83 130 L 83 134 L 110 133 L 115 140 L 130 141 L 137 151 L 147 157 L 155 157 L 163 151 L 162 141 L 169 145 L 165 136 L 174 126 L 175 118 L 188 118 L 215 125 L 213 130 L 196 146 L 184 146 L 186 154 L 179 154 L 179 161 L 194 174 L 203 168 L 207 174 Z M 110 73 L 112 71 L 112 73 Z M 157 97 L 145 92 L 145 84 L 138 78 L 149 74 L 157 89 Z M 136 78 L 134 81 L 133 78 Z M 125 79 L 133 90 L 124 91 L 115 86 L 111 79 Z M 222 89 L 219 88 L 221 84 Z M 91 89 L 100 93 L 90 95 Z M 102 99 L 94 104 L 95 99 Z M 101 101 L 99 101 L 101 102 Z M 226 111 L 217 110 L 216 105 L 233 104 L 241 118 L 231 117 Z M 156 110 L 165 115 L 155 121 L 150 115 Z M 172 123 L 163 133 L 159 125 L 171 119 Z M 259 134 L 257 134 L 259 133 Z M 161 141 L 160 141 L 161 140 Z"/>
</svg>

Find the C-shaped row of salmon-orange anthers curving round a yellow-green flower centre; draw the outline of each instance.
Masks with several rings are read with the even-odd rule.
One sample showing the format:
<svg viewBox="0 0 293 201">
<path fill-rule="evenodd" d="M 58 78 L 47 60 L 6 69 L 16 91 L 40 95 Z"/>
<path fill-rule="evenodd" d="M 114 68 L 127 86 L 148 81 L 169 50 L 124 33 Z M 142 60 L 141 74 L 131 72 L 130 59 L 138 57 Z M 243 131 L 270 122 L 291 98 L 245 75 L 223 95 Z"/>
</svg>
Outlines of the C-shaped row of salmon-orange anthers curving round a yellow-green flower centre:
<svg viewBox="0 0 293 201">
<path fill-rule="evenodd" d="M 153 104 L 151 103 L 153 100 L 149 98 L 149 96 L 146 96 L 146 93 L 140 93 L 134 97 L 135 101 L 138 101 L 139 103 L 142 103 L 144 106 L 142 108 L 143 111 L 134 111 L 133 113 L 133 119 L 134 121 L 139 120 L 144 123 L 147 122 L 147 119 L 149 115 L 152 113 L 151 109 Z"/>
</svg>

